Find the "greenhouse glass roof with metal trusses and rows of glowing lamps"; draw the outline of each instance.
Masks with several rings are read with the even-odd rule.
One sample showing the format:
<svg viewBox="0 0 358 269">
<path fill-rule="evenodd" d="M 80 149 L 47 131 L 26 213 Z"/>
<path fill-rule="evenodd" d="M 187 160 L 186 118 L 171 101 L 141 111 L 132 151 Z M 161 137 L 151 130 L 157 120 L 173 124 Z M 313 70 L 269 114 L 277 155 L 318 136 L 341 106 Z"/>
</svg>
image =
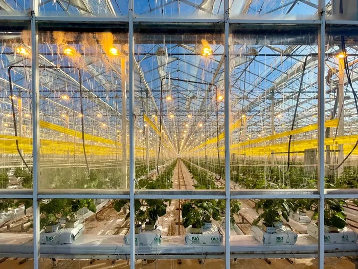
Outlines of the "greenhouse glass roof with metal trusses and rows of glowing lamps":
<svg viewBox="0 0 358 269">
<path fill-rule="evenodd" d="M 312 16 L 317 1 L 231 1 L 231 15 Z M 25 2 L 27 3 L 27 2 Z M 299 5 L 297 5 L 299 4 Z M 20 2 L 0 4 L 2 12 L 24 12 Z M 135 1 L 138 16 L 171 16 L 178 13 L 221 17 L 222 1 Z M 41 1 L 42 15 L 86 14 L 126 16 L 126 1 Z M 330 10 L 330 3 L 327 3 Z M 235 13 L 236 12 L 236 13 Z M 224 48 L 223 31 L 209 26 L 189 33 L 178 29 L 135 27 L 135 123 L 136 136 L 144 146 L 145 125 L 151 121 L 164 133 L 175 153 L 189 151 L 223 132 Z M 180 29 L 179 29 L 180 30 Z M 41 120 L 73 130 L 118 140 L 122 137 L 123 87 L 128 83 L 127 30 L 113 32 L 39 32 L 39 87 Z M 9 74 L 14 98 L 21 97 L 24 125 L 31 125 L 31 42 L 29 31 L 2 32 L 1 107 L 4 134 L 13 134 Z M 356 39 L 346 39 L 353 86 L 357 81 Z M 113 51 L 113 49 L 116 49 Z M 329 36 L 326 46 L 326 116 L 337 98 L 339 36 Z M 265 34 L 238 30 L 230 34 L 230 121 L 240 121 L 233 132 L 235 143 L 292 128 L 298 91 L 295 127 L 317 122 L 317 30 L 267 31 Z M 9 69 L 10 66 L 13 66 Z M 10 71 L 9 71 L 10 70 Z M 303 74 L 303 75 L 302 75 Z M 126 81 L 123 84 L 123 81 Z M 301 83 L 302 81 L 302 83 Z M 345 85 L 347 86 L 347 79 Z M 80 89 L 82 92 L 80 92 Z M 128 89 L 127 89 L 128 90 Z M 82 97 L 82 98 L 81 98 Z M 124 96 L 126 97 L 126 96 Z M 82 99 L 82 102 L 80 102 Z M 354 97 L 345 87 L 345 119 L 356 128 Z M 148 102 L 148 104 L 147 104 Z M 274 106 L 272 106 L 272 104 Z M 128 106 L 128 104 L 126 104 Z M 128 110 L 126 117 L 128 118 Z M 82 115 L 83 114 L 83 115 Z M 144 119 L 144 114 L 149 120 Z M 27 116 L 29 115 L 29 116 Z M 162 125 L 160 124 L 162 121 Z M 245 130 L 242 130 L 242 122 Z M 28 124 L 27 124 L 28 123 Z M 352 128 L 353 127 L 353 128 Z M 31 133 L 27 129 L 26 132 Z M 348 130 L 347 130 L 348 132 Z M 42 134 L 46 136 L 46 132 Z M 150 129 L 149 135 L 155 136 Z M 164 138 L 163 138 L 164 139 Z M 222 142 L 222 141 L 221 141 Z M 221 143 L 220 142 L 220 143 Z"/>
</svg>

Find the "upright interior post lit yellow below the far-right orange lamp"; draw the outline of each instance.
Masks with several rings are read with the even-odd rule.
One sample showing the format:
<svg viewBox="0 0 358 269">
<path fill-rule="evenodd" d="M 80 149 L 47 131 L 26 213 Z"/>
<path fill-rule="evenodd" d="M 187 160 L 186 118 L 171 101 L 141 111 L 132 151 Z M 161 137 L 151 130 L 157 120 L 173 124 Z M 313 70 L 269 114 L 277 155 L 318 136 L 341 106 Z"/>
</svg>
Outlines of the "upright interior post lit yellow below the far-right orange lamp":
<svg viewBox="0 0 358 269">
<path fill-rule="evenodd" d="M 338 84 L 338 136 L 344 136 L 344 58 L 339 58 L 339 84 Z M 338 165 L 343 162 L 343 144 L 338 145 Z M 343 174 L 343 165 L 337 169 L 338 176 Z"/>
</svg>

